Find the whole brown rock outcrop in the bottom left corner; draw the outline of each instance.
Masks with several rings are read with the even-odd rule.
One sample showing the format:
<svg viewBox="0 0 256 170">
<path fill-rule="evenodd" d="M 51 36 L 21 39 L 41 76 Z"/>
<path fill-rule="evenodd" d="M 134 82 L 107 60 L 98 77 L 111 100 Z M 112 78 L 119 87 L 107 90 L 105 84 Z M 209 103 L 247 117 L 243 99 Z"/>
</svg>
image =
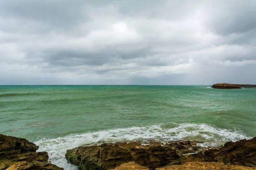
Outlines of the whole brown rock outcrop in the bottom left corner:
<svg viewBox="0 0 256 170">
<path fill-rule="evenodd" d="M 0 134 L 0 170 L 63 170 L 48 163 L 47 152 L 24 138 Z"/>
</svg>

